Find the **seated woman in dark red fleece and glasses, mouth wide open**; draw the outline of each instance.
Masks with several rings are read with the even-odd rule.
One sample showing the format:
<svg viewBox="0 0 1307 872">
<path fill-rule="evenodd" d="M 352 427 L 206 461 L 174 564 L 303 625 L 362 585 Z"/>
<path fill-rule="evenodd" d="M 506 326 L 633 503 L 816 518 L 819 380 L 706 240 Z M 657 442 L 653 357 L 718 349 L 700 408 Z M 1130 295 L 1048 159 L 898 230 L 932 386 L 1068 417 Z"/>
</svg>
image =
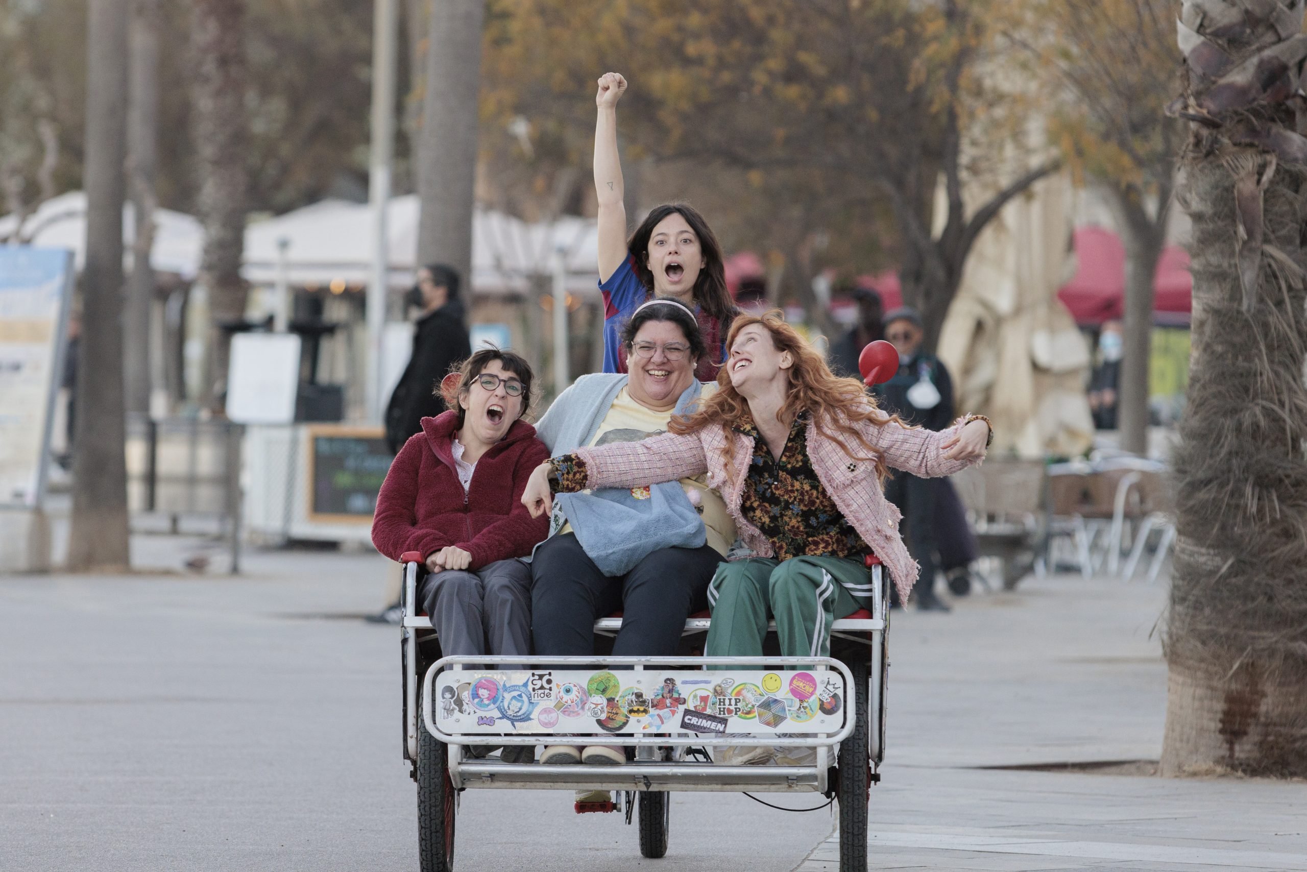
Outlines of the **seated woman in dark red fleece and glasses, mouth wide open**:
<svg viewBox="0 0 1307 872">
<path fill-rule="evenodd" d="M 520 558 L 549 519 L 520 503 L 549 456 L 531 407 L 531 366 L 512 352 L 474 353 L 442 382 L 450 407 L 422 418 L 376 495 L 372 544 L 392 560 L 421 552 L 417 591 L 447 655 L 531 654 L 531 567 Z M 508 749 L 514 761 L 531 749 Z"/>
</svg>

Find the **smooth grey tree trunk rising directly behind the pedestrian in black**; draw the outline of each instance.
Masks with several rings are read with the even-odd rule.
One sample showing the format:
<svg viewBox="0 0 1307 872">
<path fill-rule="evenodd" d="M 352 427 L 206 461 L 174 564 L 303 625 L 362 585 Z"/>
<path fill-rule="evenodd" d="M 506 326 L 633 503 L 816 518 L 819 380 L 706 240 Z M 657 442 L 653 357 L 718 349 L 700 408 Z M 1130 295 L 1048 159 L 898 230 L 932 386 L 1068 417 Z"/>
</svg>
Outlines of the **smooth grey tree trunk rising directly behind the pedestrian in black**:
<svg viewBox="0 0 1307 872">
<path fill-rule="evenodd" d="M 418 153 L 418 263 L 457 269 L 468 301 L 484 20 L 484 0 L 435 0 L 431 8 Z"/>
</svg>

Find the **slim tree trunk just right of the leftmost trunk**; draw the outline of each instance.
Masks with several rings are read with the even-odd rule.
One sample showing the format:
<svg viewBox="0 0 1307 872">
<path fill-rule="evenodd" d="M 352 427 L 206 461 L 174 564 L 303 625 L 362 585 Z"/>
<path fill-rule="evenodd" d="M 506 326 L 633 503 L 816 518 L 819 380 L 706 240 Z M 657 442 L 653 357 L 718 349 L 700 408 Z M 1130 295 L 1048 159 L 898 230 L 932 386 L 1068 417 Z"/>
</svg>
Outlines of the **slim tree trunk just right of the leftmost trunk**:
<svg viewBox="0 0 1307 872">
<path fill-rule="evenodd" d="M 154 174 L 158 123 L 158 0 L 136 0 L 131 22 L 131 75 L 127 99 L 127 159 L 136 221 L 132 275 L 123 312 L 127 411 L 150 411 L 150 306 L 154 302 Z"/>
</svg>

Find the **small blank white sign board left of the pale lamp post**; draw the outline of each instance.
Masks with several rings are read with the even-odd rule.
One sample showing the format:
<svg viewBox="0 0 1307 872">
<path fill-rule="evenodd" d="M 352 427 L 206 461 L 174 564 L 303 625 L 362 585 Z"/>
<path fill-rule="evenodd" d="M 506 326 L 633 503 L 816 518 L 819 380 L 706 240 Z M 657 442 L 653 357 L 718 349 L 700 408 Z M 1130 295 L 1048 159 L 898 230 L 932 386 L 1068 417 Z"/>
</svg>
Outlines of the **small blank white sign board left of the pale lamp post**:
<svg viewBox="0 0 1307 872">
<path fill-rule="evenodd" d="M 237 333 L 227 366 L 227 417 L 238 424 L 290 424 L 299 391 L 299 336 Z"/>
</svg>

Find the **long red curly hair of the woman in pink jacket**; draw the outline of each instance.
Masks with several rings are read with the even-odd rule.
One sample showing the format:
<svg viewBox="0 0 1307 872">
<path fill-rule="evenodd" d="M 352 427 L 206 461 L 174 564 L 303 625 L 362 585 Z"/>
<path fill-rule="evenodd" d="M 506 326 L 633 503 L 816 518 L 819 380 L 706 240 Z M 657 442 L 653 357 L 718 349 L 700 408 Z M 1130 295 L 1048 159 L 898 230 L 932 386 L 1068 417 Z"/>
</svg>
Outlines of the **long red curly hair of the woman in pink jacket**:
<svg viewBox="0 0 1307 872">
<path fill-rule="evenodd" d="M 831 373 L 826 361 L 808 344 L 808 340 L 786 323 L 786 316 L 779 309 L 772 309 L 762 315 L 737 316 L 731 323 L 727 348 L 729 349 L 735 344 L 740 331 L 754 324 L 771 333 L 771 343 L 778 352 L 789 352 L 791 358 L 793 358 L 793 363 L 786 370 L 789 388 L 786 392 L 786 401 L 776 413 L 778 417 L 792 420 L 806 409 L 813 416 L 818 433 L 829 439 L 835 439 L 836 433 L 843 437 L 838 442 L 844 448 L 844 454 L 853 460 L 873 460 L 876 475 L 884 485 L 889 471 L 885 467 L 882 452 L 863 438 L 863 434 L 853 425 L 861 421 L 870 421 L 877 426 L 891 421 L 903 425 L 898 416 L 881 412 L 876 400 L 868 396 L 867 388 L 859 379 L 839 378 Z M 729 438 L 729 430 L 749 417 L 749 401 L 735 390 L 725 365 L 718 371 L 718 387 L 720 390 L 711 397 L 698 401 L 691 414 L 673 417 L 668 424 L 668 430 L 685 434 L 711 425 L 723 428 L 728 431 L 728 438 L 721 454 L 729 471 L 735 455 L 735 441 Z M 867 450 L 867 456 L 859 458 L 848 450 L 848 444 L 853 442 Z"/>
</svg>

